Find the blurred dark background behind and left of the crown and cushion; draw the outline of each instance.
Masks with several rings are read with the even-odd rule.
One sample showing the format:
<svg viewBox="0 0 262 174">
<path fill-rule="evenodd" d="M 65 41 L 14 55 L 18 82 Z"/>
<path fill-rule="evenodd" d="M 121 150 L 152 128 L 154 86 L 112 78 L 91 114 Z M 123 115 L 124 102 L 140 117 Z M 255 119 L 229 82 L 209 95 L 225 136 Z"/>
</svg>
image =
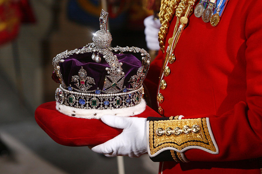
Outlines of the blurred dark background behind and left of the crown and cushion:
<svg viewBox="0 0 262 174">
<path fill-rule="evenodd" d="M 117 159 L 54 142 L 34 111 L 54 101 L 52 59 L 85 46 L 109 12 L 112 46 L 146 48 L 153 0 L 0 0 L 0 173 L 117 173 Z M 157 8 L 159 9 L 159 8 Z M 152 55 L 153 56 L 153 55 Z M 148 155 L 124 157 L 125 173 L 157 173 Z"/>
</svg>

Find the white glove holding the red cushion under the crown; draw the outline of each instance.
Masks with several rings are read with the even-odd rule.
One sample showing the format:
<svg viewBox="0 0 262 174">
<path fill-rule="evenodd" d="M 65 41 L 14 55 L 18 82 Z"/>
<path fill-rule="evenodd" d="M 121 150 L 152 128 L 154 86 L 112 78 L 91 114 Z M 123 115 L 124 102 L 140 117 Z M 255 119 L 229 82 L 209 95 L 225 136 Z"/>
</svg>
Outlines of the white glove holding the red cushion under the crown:
<svg viewBox="0 0 262 174">
<path fill-rule="evenodd" d="M 104 115 L 101 120 L 111 127 L 124 130 L 113 139 L 91 148 L 92 151 L 107 157 L 139 157 L 147 153 L 146 118 Z"/>
</svg>

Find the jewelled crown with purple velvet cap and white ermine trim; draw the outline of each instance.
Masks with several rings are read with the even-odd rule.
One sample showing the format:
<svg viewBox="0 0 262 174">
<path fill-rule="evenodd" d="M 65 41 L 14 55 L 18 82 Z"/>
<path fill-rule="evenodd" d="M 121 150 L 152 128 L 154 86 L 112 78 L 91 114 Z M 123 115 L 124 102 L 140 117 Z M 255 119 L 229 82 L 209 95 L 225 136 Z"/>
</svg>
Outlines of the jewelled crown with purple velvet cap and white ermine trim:
<svg viewBox="0 0 262 174">
<path fill-rule="evenodd" d="M 65 115 L 89 119 L 106 114 L 132 116 L 146 107 L 142 83 L 150 55 L 137 47 L 110 47 L 107 18 L 108 13 L 102 10 L 100 30 L 93 34 L 92 43 L 53 59 L 52 79 L 60 84 L 55 93 L 56 109 Z"/>
</svg>

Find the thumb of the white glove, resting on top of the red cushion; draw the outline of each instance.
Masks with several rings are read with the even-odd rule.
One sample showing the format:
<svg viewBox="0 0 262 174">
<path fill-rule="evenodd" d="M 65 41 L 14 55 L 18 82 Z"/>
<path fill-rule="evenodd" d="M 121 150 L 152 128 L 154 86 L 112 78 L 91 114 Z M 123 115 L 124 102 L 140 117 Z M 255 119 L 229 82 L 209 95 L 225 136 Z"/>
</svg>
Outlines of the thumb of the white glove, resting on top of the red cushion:
<svg viewBox="0 0 262 174">
<path fill-rule="evenodd" d="M 108 126 L 120 129 L 127 128 L 129 119 L 129 117 L 118 117 L 115 115 L 104 115 L 101 117 L 102 122 L 104 122 Z"/>
</svg>

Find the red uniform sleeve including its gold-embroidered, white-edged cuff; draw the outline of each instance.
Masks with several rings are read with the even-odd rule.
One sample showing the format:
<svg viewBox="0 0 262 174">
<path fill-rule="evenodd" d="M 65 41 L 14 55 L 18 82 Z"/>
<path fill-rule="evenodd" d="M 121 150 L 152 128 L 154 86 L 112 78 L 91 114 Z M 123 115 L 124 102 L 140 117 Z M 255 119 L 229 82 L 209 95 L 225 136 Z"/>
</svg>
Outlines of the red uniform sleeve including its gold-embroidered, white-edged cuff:
<svg viewBox="0 0 262 174">
<path fill-rule="evenodd" d="M 253 4 L 245 26 L 246 102 L 240 101 L 219 116 L 148 118 L 148 153 L 152 160 L 232 161 L 262 156 L 261 19 L 261 6 Z"/>
</svg>

